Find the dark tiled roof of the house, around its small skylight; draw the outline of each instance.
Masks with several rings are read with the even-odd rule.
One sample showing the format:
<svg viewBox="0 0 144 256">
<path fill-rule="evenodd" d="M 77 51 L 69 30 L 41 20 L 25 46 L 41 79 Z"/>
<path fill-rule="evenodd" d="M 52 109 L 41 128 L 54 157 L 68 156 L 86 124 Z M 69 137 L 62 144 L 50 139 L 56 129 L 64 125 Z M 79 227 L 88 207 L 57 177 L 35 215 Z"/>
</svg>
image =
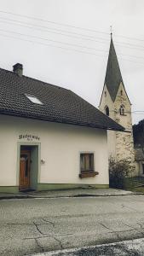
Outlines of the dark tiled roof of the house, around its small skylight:
<svg viewBox="0 0 144 256">
<path fill-rule="evenodd" d="M 32 103 L 36 96 L 43 105 Z M 72 125 L 124 131 L 97 108 L 71 90 L 0 68 L 0 113 Z"/>
</svg>

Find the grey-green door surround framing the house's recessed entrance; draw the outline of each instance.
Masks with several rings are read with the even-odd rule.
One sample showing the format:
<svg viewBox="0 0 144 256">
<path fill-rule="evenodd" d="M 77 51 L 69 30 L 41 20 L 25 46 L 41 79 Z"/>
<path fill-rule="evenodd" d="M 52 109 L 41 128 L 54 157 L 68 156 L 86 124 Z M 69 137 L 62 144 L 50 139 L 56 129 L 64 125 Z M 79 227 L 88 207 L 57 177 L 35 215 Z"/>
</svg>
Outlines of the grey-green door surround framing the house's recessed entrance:
<svg viewBox="0 0 144 256">
<path fill-rule="evenodd" d="M 21 146 L 36 146 L 38 148 L 38 166 L 37 166 L 37 183 L 40 183 L 41 172 L 41 143 L 20 142 L 17 143 L 17 172 L 16 172 L 16 185 L 20 185 L 20 147 Z M 37 190 L 37 189 L 36 189 Z"/>
</svg>

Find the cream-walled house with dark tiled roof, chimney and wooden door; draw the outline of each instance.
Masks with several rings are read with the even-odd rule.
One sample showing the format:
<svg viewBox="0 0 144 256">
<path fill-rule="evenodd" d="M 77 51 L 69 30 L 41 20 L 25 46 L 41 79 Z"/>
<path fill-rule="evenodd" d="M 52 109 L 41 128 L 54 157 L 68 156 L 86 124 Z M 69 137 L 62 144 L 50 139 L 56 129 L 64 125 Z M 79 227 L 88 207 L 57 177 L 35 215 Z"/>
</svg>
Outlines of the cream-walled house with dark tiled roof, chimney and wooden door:
<svg viewBox="0 0 144 256">
<path fill-rule="evenodd" d="M 107 129 L 124 131 L 71 90 L 0 69 L 0 192 L 107 188 Z"/>
</svg>

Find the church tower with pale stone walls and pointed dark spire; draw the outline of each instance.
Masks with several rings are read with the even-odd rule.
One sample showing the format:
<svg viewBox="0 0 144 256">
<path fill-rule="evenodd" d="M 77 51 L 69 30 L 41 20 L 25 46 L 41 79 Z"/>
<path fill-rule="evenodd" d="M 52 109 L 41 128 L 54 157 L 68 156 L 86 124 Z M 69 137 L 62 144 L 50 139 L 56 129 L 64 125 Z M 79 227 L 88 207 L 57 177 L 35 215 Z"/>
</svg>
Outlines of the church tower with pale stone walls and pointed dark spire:
<svg viewBox="0 0 144 256">
<path fill-rule="evenodd" d="M 131 166 L 135 166 L 131 103 L 124 87 L 112 36 L 99 108 L 129 131 L 107 131 L 109 157 L 112 156 L 115 160 L 128 160 Z"/>
</svg>

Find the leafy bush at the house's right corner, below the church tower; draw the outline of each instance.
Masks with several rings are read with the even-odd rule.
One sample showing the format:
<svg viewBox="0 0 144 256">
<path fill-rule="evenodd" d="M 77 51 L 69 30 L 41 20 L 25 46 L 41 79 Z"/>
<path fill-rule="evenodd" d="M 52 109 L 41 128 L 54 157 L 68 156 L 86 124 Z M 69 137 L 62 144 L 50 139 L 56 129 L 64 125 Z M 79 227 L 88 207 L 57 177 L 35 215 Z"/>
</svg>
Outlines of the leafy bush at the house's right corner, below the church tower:
<svg viewBox="0 0 144 256">
<path fill-rule="evenodd" d="M 126 189 L 125 179 L 130 177 L 131 166 L 127 160 L 109 159 L 109 185 L 114 189 Z"/>
</svg>

